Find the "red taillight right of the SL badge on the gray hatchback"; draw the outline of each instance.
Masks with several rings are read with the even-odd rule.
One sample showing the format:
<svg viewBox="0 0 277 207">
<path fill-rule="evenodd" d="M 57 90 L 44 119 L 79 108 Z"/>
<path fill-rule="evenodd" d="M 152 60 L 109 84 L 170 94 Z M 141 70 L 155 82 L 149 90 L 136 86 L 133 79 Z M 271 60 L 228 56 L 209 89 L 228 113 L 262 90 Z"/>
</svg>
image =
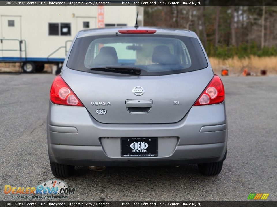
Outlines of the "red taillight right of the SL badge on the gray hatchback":
<svg viewBox="0 0 277 207">
<path fill-rule="evenodd" d="M 214 75 L 193 106 L 219 104 L 224 101 L 224 99 L 225 91 L 223 83 L 217 75 Z"/>
</svg>

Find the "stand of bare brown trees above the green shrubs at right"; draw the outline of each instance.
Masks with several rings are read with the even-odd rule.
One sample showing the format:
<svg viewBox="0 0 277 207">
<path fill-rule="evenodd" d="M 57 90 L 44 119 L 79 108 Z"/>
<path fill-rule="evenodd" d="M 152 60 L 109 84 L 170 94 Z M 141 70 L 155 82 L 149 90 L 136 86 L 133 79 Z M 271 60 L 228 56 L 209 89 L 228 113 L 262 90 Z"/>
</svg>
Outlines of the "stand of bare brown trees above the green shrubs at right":
<svg viewBox="0 0 277 207">
<path fill-rule="evenodd" d="M 210 18 L 211 14 L 214 15 L 213 18 Z M 217 47 L 219 45 L 236 47 L 247 43 L 249 50 L 254 48 L 254 44 L 259 43 L 259 48 L 253 49 L 255 51 L 260 47 L 277 46 L 277 7 L 275 6 L 153 6 L 145 7 L 144 16 L 145 26 L 194 30 L 206 48 L 211 43 L 213 43 L 212 46 Z"/>
</svg>

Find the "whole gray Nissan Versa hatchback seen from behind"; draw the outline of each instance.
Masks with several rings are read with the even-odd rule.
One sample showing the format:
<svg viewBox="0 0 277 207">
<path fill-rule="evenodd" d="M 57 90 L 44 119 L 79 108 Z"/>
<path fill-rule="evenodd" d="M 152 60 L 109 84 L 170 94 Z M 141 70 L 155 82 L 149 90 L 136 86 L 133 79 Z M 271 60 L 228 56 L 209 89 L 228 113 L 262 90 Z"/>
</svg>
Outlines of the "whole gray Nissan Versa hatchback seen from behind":
<svg viewBox="0 0 277 207">
<path fill-rule="evenodd" d="M 227 153 L 224 87 L 194 32 L 79 32 L 50 91 L 53 175 L 74 166 L 197 163 L 217 175 Z"/>
</svg>

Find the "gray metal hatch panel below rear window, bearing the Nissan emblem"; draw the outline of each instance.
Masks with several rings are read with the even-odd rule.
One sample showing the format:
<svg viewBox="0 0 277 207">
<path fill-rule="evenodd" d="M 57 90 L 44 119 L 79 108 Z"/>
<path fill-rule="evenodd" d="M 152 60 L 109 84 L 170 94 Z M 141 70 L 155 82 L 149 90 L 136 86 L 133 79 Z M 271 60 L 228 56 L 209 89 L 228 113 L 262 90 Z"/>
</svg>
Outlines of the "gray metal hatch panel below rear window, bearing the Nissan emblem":
<svg viewBox="0 0 277 207">
<path fill-rule="evenodd" d="M 163 76 L 94 74 L 67 68 L 62 78 L 98 122 L 163 124 L 180 121 L 213 75 L 210 67 Z"/>
</svg>

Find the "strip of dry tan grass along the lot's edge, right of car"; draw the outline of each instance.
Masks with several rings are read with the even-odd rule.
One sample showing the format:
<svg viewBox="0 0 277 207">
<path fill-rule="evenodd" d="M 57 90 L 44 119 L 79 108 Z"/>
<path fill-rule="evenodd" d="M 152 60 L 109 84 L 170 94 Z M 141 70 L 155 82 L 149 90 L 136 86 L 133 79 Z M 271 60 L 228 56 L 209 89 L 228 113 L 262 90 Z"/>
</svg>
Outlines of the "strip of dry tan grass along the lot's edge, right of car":
<svg viewBox="0 0 277 207">
<path fill-rule="evenodd" d="M 222 69 L 229 69 L 229 74 L 241 74 L 244 69 L 257 75 L 260 74 L 260 70 L 267 70 L 268 74 L 277 74 L 277 57 L 234 57 L 227 60 L 210 57 L 209 60 L 216 74 L 220 74 Z"/>
</svg>

